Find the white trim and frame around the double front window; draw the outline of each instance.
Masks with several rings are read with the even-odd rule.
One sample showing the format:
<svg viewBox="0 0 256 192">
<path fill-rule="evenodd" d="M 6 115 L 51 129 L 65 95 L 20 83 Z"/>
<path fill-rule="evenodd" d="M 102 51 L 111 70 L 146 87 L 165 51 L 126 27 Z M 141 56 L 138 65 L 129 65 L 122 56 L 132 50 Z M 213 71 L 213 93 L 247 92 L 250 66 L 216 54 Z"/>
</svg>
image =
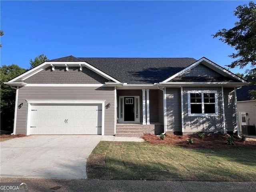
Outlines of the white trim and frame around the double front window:
<svg viewBox="0 0 256 192">
<path fill-rule="evenodd" d="M 191 106 L 190 106 L 190 93 L 200 93 L 202 94 L 202 114 L 192 114 L 191 113 Z M 215 94 L 215 113 L 207 114 L 204 113 L 204 93 L 214 93 Z M 196 116 L 196 117 L 203 117 L 203 116 L 218 116 L 218 92 L 216 90 L 202 90 L 202 91 L 188 91 L 188 116 Z"/>
</svg>

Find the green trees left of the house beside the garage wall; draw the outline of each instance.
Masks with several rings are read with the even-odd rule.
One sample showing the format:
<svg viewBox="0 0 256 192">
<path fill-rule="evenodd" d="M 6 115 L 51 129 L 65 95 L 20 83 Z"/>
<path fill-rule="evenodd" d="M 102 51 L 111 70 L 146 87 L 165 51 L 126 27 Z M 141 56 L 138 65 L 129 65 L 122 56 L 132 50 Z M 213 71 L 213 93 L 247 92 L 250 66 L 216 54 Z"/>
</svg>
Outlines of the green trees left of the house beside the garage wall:
<svg viewBox="0 0 256 192">
<path fill-rule="evenodd" d="M 16 90 L 10 88 L 9 85 L 5 85 L 7 82 L 16 76 L 26 72 L 26 69 L 12 64 L 9 66 L 3 65 L 0 67 L 0 84 L 1 84 L 1 101 L 0 101 L 0 118 L 1 118 L 1 130 L 12 132 L 13 120 L 14 120 L 14 108 L 15 108 L 15 95 Z"/>
</svg>

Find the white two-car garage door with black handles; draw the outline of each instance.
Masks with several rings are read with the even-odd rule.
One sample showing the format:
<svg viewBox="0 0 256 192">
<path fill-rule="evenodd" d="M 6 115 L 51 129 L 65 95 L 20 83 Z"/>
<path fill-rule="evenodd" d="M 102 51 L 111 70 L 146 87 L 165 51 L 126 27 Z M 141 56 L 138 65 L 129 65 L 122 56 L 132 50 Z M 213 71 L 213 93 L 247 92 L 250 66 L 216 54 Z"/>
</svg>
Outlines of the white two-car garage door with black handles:
<svg viewBox="0 0 256 192">
<path fill-rule="evenodd" d="M 101 104 L 34 104 L 30 114 L 30 134 L 101 134 Z"/>
</svg>

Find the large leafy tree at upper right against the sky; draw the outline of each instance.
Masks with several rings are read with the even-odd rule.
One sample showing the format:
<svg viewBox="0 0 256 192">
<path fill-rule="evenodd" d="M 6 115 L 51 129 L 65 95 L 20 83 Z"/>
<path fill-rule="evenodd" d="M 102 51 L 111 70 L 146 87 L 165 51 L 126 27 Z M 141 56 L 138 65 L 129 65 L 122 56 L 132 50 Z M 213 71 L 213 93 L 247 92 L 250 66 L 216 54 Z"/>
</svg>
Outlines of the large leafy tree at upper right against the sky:
<svg viewBox="0 0 256 192">
<path fill-rule="evenodd" d="M 234 15 L 239 21 L 229 30 L 218 30 L 212 35 L 214 38 L 220 37 L 220 40 L 229 46 L 235 48 L 236 53 L 229 57 L 236 59 L 229 68 L 244 68 L 251 65 L 251 70 L 246 72 L 256 72 L 256 4 L 249 2 L 249 7 L 244 4 L 234 10 Z"/>
</svg>

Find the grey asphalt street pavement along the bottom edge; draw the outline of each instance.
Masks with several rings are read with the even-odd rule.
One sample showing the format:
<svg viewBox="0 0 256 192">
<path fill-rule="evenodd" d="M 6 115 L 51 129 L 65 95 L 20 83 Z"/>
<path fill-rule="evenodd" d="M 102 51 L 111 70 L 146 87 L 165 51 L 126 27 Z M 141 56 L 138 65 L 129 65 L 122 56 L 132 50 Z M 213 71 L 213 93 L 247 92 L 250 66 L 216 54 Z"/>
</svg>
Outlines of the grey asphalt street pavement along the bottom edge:
<svg viewBox="0 0 256 192">
<path fill-rule="evenodd" d="M 30 192 L 255 192 L 256 182 L 199 182 L 144 180 L 46 180 L 1 178 L 25 182 Z M 53 190 L 53 187 L 60 187 Z"/>
</svg>

